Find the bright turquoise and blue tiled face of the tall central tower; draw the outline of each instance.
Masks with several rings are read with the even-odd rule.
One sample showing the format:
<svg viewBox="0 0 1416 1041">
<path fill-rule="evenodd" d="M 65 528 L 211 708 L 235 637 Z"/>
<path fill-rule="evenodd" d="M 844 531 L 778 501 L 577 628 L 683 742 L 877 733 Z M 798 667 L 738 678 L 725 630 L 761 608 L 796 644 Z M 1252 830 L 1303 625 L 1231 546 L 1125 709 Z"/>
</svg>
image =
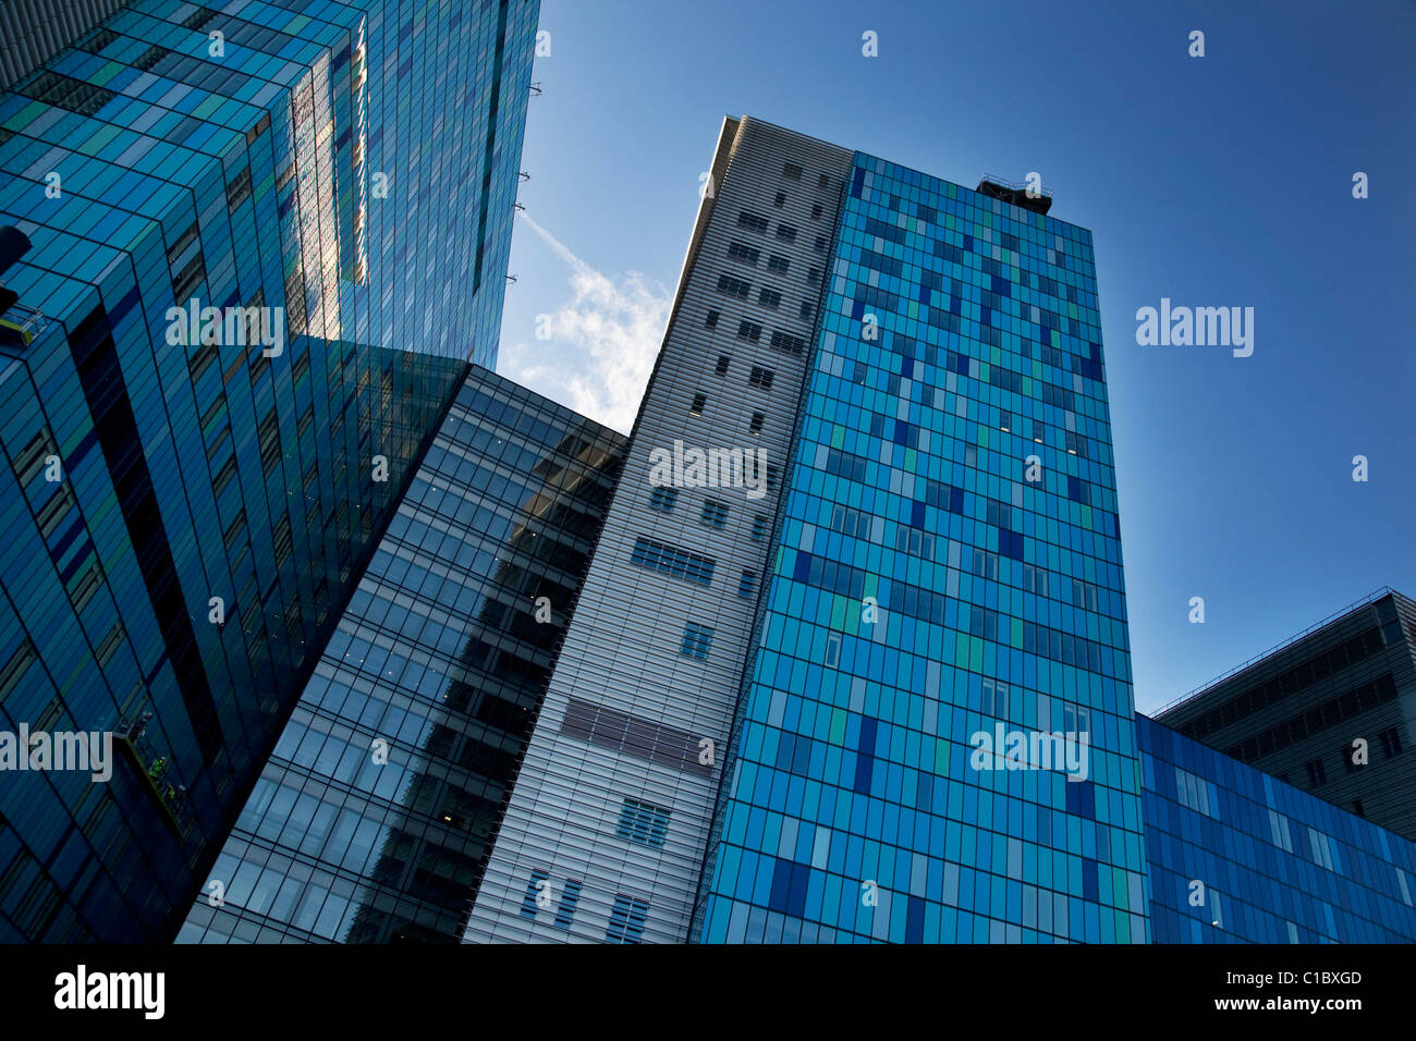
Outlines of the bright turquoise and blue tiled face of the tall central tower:
<svg viewBox="0 0 1416 1041">
<path fill-rule="evenodd" d="M 845 193 L 698 936 L 1147 940 L 1090 234 Z M 1011 731 L 1085 769 L 977 759 Z"/>
</svg>

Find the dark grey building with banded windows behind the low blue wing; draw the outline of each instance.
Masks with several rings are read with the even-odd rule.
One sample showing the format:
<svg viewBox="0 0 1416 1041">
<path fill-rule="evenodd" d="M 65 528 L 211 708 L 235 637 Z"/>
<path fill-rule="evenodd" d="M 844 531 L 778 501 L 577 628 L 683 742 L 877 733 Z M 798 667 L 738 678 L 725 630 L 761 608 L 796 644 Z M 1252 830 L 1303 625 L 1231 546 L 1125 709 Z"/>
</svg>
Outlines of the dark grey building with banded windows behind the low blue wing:
<svg viewBox="0 0 1416 1041">
<path fill-rule="evenodd" d="M 1416 603 L 1395 589 L 1155 719 L 1416 841 Z"/>
</svg>

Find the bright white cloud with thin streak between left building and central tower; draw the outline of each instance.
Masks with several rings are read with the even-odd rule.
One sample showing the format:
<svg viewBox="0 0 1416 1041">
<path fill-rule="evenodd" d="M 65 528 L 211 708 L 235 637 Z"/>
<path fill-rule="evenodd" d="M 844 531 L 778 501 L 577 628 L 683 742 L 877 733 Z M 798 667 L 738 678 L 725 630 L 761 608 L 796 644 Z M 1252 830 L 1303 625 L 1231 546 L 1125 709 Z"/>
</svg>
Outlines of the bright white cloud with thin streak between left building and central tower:
<svg viewBox="0 0 1416 1041">
<path fill-rule="evenodd" d="M 673 295 L 629 271 L 616 282 L 525 212 L 518 220 L 571 268 L 572 297 L 548 314 L 549 340 L 503 343 L 497 371 L 581 415 L 629 433 L 664 337 Z M 547 319 L 538 316 L 538 323 Z"/>
</svg>

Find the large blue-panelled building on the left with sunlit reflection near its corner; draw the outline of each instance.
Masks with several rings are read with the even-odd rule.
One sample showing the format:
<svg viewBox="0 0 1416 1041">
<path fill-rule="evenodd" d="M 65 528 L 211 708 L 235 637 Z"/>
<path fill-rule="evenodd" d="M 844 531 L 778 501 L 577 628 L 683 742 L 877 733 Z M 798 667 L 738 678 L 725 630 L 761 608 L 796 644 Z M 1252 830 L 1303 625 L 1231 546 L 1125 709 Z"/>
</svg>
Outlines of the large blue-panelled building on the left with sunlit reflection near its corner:
<svg viewBox="0 0 1416 1041">
<path fill-rule="evenodd" d="M 7 778 L 0 939 L 180 923 L 494 361 L 537 7 L 135 0 L 0 93 L 0 711 L 115 735 Z"/>
</svg>

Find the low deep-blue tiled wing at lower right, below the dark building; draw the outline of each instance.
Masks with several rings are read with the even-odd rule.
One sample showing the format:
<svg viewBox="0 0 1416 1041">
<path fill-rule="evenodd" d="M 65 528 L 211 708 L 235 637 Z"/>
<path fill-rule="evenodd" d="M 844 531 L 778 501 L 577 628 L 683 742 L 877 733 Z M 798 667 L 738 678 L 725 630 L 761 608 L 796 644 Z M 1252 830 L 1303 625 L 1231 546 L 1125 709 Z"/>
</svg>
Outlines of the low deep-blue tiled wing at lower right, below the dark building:
<svg viewBox="0 0 1416 1041">
<path fill-rule="evenodd" d="M 1416 847 L 1144 715 L 1157 943 L 1410 943 Z"/>
</svg>

